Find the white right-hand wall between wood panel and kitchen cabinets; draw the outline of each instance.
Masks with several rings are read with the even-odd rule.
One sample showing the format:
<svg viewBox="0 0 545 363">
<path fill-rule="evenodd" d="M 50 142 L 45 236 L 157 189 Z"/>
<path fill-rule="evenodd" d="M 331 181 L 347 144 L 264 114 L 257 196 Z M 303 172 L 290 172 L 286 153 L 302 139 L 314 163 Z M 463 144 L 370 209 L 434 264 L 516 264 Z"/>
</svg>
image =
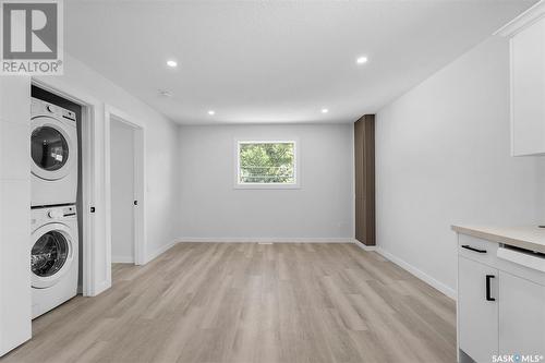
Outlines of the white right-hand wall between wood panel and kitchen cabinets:
<svg viewBox="0 0 545 363">
<path fill-rule="evenodd" d="M 544 164 L 510 157 L 509 133 L 504 38 L 483 43 L 382 109 L 379 249 L 452 294 L 457 247 L 450 225 L 535 223 Z"/>
</svg>

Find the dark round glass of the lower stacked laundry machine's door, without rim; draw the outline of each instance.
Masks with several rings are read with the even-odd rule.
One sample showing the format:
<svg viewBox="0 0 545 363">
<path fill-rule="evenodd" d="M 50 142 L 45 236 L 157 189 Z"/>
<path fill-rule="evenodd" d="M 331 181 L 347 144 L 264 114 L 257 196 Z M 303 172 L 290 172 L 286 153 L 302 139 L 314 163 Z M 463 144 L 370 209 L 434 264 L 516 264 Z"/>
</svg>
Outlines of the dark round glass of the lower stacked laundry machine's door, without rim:
<svg viewBox="0 0 545 363">
<path fill-rule="evenodd" d="M 43 234 L 32 249 L 31 268 L 34 275 L 51 277 L 62 269 L 70 255 L 70 244 L 58 231 Z"/>
</svg>

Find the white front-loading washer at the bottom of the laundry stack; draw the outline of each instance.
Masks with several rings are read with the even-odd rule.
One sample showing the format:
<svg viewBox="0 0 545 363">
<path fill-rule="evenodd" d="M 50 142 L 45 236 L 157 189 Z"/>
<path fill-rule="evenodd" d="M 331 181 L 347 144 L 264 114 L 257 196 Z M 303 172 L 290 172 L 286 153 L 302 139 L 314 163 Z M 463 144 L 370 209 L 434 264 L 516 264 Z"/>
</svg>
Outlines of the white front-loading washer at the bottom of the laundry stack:
<svg viewBox="0 0 545 363">
<path fill-rule="evenodd" d="M 33 318 L 77 294 L 75 205 L 32 209 Z"/>
</svg>

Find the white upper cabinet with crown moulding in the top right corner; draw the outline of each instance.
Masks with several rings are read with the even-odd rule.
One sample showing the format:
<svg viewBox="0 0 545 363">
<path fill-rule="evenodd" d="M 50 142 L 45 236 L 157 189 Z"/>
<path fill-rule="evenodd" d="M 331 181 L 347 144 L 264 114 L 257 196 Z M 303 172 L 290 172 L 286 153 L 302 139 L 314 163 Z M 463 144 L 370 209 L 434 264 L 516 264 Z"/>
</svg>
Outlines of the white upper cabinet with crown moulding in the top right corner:
<svg viewBox="0 0 545 363">
<path fill-rule="evenodd" d="M 545 0 L 496 34 L 510 43 L 511 153 L 545 155 Z"/>
</svg>

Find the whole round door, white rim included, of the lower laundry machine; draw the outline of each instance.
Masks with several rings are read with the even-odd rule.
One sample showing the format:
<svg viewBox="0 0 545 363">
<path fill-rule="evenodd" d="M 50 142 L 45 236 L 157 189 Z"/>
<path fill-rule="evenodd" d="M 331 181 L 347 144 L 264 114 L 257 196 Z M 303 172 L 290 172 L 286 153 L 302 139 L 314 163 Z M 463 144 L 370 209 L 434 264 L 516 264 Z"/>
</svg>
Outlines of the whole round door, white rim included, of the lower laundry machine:
<svg viewBox="0 0 545 363">
<path fill-rule="evenodd" d="M 33 288 L 57 283 L 70 269 L 73 258 L 70 229 L 63 223 L 46 225 L 33 233 L 31 270 Z"/>
</svg>

